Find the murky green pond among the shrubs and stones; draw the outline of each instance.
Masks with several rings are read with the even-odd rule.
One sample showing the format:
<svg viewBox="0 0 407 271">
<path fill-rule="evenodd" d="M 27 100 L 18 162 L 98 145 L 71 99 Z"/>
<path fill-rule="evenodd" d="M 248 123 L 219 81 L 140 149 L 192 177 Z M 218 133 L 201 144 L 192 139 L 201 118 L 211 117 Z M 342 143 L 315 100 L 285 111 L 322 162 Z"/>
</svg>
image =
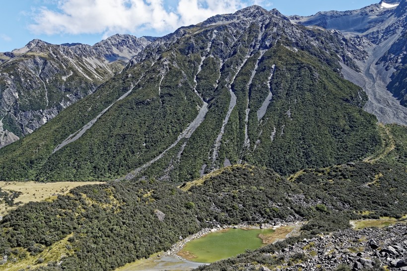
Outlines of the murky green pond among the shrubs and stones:
<svg viewBox="0 0 407 271">
<path fill-rule="evenodd" d="M 211 232 L 188 242 L 178 254 L 197 263 L 213 263 L 263 246 L 259 234 L 268 235 L 272 229 L 226 229 Z"/>
</svg>

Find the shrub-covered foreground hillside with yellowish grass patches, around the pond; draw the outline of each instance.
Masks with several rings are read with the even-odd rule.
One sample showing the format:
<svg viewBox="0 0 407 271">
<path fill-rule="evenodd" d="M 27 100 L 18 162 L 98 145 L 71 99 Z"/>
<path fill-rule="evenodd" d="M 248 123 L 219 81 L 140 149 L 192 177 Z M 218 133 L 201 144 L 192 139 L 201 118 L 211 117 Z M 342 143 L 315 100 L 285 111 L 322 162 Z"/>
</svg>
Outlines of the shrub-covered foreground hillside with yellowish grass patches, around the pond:
<svg viewBox="0 0 407 271">
<path fill-rule="evenodd" d="M 395 148 L 375 162 L 307 169 L 288 179 L 270 169 L 236 165 L 180 189 L 154 179 L 112 181 L 75 188 L 53 202 L 28 203 L 0 221 L 0 250 L 14 261 L 0 270 L 80 270 L 84 265 L 113 270 L 169 249 L 180 235 L 217 224 L 310 220 L 300 238 L 312 238 L 348 228 L 349 219 L 401 217 L 407 212 L 407 173 L 400 166 L 406 165 L 401 139 L 406 129 L 400 129 L 389 127 Z M 291 242 L 298 240 L 289 239 L 279 249 Z M 238 268 L 247 261 L 270 264 L 273 258 L 262 255 L 272 249 L 205 269 Z"/>
</svg>

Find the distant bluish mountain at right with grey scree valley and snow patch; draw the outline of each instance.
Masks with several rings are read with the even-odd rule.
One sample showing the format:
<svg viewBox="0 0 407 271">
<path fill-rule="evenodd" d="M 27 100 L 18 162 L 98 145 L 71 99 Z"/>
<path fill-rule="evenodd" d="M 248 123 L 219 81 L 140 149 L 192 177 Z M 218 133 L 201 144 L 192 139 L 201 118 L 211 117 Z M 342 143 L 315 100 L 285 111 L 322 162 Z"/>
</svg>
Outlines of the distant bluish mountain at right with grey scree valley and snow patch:
<svg viewBox="0 0 407 271">
<path fill-rule="evenodd" d="M 369 97 L 364 109 L 380 122 L 407 125 L 406 0 L 382 0 L 358 10 L 318 12 L 290 19 L 305 26 L 339 30 L 366 51 L 366 58 L 356 60 L 361 72 L 355 74 L 343 67 L 345 78 L 363 87 Z"/>
</svg>

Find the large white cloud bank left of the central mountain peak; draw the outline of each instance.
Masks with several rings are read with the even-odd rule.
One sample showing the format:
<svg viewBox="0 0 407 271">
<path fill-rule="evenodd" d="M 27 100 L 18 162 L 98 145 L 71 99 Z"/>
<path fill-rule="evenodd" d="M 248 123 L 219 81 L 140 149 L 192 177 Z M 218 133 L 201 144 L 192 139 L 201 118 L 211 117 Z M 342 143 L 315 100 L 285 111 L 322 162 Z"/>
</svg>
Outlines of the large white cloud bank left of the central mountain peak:
<svg viewBox="0 0 407 271">
<path fill-rule="evenodd" d="M 164 32 L 241 7 L 242 0 L 178 0 L 172 11 L 165 9 L 163 0 L 60 0 L 58 10 L 37 9 L 29 29 L 48 35 L 103 33 L 106 36 L 145 29 Z"/>
</svg>

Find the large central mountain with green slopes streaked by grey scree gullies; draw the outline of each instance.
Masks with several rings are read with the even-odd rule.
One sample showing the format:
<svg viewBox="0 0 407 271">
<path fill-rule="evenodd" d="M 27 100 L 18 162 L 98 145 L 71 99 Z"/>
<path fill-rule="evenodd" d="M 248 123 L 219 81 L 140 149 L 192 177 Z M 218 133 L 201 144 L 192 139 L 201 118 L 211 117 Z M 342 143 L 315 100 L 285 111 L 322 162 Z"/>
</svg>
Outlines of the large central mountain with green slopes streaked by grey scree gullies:
<svg viewBox="0 0 407 271">
<path fill-rule="evenodd" d="M 359 159 L 380 143 L 377 120 L 339 60 L 357 69 L 364 54 L 338 31 L 260 6 L 211 17 L 155 40 L 95 93 L 2 148 L 0 178 L 179 182 L 236 163 L 288 174 Z"/>
</svg>

